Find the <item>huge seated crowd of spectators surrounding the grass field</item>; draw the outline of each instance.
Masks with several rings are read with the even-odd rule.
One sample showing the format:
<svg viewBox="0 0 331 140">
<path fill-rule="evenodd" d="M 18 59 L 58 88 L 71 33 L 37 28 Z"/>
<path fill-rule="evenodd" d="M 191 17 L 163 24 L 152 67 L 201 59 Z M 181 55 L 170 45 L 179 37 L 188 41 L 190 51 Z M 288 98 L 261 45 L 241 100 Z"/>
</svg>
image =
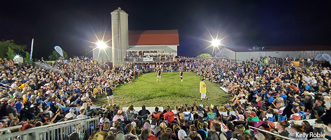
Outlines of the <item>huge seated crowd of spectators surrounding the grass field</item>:
<svg viewBox="0 0 331 140">
<path fill-rule="evenodd" d="M 229 93 L 229 103 L 178 107 L 157 107 L 150 112 L 130 106 L 91 109 L 91 98 L 112 84 L 132 82 L 135 72 L 153 70 L 159 65 L 141 68 L 129 64 L 110 69 L 92 59 L 73 59 L 55 67 L 65 74 L 31 64 L 12 65 L 1 62 L 0 128 L 23 125 L 32 127 L 76 118 L 99 117 L 99 127 L 90 138 L 80 132 L 69 140 L 281 140 L 269 131 L 298 140 L 327 140 L 331 135 L 331 71 L 326 67 L 300 68 L 293 64 L 260 62 L 231 63 L 225 60 L 183 60 L 173 69 L 197 73 L 220 84 Z M 165 69 L 168 65 L 161 65 Z M 207 89 L 208 90 L 208 89 Z M 81 107 L 79 111 L 65 107 Z M 310 124 L 309 119 L 317 119 Z M 297 124 L 298 120 L 303 120 Z M 248 126 L 259 129 L 251 129 Z M 303 132 L 326 137 L 304 138 Z M 327 139 L 326 139 L 327 138 Z"/>
</svg>

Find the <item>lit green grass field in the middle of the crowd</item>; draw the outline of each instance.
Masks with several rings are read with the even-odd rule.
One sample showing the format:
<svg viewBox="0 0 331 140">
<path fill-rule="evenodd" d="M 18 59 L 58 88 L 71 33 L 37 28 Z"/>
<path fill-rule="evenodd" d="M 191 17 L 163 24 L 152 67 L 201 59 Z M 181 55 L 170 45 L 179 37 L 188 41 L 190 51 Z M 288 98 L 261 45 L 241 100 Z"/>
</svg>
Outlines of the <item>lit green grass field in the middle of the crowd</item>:
<svg viewBox="0 0 331 140">
<path fill-rule="evenodd" d="M 170 106 L 172 109 L 177 105 L 182 104 L 192 105 L 196 102 L 200 104 L 199 82 L 200 76 L 193 72 L 184 72 L 183 81 L 178 72 L 173 74 L 163 72 L 161 81 L 156 81 L 156 73 L 147 73 L 138 77 L 132 83 L 125 83 L 117 86 L 113 91 L 115 97 L 115 104 L 122 107 L 166 107 Z M 219 88 L 219 84 L 205 80 L 207 85 L 207 97 L 209 101 L 203 100 L 204 106 L 224 105 L 230 98 L 227 93 Z M 107 104 L 107 97 L 105 94 L 99 95 L 93 102 L 97 106 Z"/>
</svg>

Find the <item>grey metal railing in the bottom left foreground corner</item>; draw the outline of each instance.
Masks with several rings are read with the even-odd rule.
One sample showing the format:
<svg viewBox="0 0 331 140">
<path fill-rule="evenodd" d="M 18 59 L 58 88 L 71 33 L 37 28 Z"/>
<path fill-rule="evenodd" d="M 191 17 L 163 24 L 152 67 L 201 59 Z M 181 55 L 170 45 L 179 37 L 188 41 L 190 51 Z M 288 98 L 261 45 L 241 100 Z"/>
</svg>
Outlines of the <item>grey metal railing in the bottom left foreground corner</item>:
<svg viewBox="0 0 331 140">
<path fill-rule="evenodd" d="M 73 132 L 89 137 L 99 125 L 99 118 L 75 119 L 0 135 L 0 140 L 67 140 Z M 20 128 L 20 127 L 18 127 Z M 81 138 L 82 139 L 82 138 Z M 83 139 L 82 139 L 83 140 Z"/>
</svg>

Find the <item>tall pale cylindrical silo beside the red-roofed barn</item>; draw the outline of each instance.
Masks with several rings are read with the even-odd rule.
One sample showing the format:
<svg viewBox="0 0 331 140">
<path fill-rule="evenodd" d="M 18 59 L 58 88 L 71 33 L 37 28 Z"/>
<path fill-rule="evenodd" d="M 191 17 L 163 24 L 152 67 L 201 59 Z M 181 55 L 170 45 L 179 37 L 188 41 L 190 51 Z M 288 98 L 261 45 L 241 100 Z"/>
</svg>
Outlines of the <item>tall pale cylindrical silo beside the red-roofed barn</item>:
<svg viewBox="0 0 331 140">
<path fill-rule="evenodd" d="M 125 63 L 124 58 L 129 47 L 129 15 L 120 7 L 110 14 L 112 15 L 113 66 L 117 66 Z"/>
</svg>

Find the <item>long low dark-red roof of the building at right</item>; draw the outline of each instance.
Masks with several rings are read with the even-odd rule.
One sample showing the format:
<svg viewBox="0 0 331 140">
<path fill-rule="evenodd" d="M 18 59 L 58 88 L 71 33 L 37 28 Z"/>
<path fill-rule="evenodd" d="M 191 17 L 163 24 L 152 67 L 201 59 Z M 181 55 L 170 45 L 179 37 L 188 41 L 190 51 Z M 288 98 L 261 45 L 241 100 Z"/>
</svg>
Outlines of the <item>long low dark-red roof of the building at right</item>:
<svg viewBox="0 0 331 140">
<path fill-rule="evenodd" d="M 246 51 L 314 51 L 314 50 L 331 50 L 331 46 L 265 46 L 262 50 L 255 49 L 253 47 L 226 47 L 235 52 Z"/>
</svg>

